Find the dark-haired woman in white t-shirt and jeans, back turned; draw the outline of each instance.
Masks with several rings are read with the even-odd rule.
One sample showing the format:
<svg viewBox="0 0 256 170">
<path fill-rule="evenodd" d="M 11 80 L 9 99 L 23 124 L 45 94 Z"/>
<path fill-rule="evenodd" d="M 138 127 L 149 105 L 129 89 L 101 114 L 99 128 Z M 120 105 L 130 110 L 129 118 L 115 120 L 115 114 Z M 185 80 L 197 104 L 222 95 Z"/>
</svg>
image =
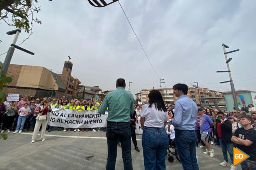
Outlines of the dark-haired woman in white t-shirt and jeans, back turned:
<svg viewBox="0 0 256 170">
<path fill-rule="evenodd" d="M 165 130 L 169 120 L 167 109 L 158 90 L 150 91 L 148 97 L 149 104 L 145 104 L 141 111 L 144 168 L 165 170 L 165 155 L 169 144 Z"/>
</svg>

